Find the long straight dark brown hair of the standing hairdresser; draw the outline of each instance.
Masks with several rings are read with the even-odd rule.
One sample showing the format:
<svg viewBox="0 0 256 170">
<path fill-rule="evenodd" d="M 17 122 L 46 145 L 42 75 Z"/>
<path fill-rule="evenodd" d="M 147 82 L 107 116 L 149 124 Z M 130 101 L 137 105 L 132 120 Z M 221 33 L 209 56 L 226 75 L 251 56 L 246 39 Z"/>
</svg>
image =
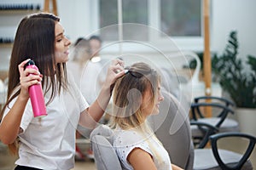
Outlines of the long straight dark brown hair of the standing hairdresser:
<svg viewBox="0 0 256 170">
<path fill-rule="evenodd" d="M 20 21 L 9 62 L 8 94 L 1 119 L 5 108 L 20 94 L 18 65 L 23 60 L 33 59 L 44 75 L 42 87 L 45 93 L 51 92 L 47 105 L 56 94 L 60 94 L 61 88 L 67 88 L 66 64 L 55 63 L 55 23 L 59 21 L 57 16 L 47 13 L 27 15 Z"/>
</svg>

